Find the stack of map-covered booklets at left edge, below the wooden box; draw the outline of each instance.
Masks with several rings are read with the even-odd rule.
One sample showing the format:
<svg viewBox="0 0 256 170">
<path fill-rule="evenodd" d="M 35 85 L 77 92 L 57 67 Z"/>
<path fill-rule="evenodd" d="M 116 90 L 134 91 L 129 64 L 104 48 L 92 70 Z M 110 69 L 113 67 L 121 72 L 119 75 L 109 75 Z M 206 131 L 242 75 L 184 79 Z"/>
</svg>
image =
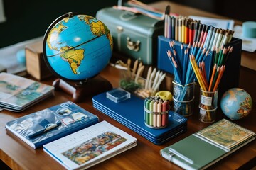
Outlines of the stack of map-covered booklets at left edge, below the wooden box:
<svg viewBox="0 0 256 170">
<path fill-rule="evenodd" d="M 20 112 L 52 96 L 54 87 L 18 75 L 0 73 L 0 108 Z"/>
</svg>

